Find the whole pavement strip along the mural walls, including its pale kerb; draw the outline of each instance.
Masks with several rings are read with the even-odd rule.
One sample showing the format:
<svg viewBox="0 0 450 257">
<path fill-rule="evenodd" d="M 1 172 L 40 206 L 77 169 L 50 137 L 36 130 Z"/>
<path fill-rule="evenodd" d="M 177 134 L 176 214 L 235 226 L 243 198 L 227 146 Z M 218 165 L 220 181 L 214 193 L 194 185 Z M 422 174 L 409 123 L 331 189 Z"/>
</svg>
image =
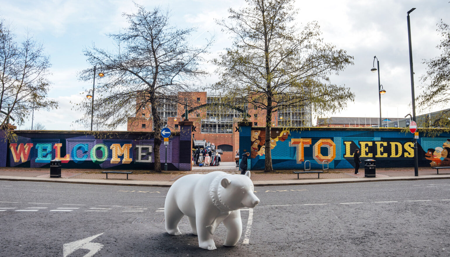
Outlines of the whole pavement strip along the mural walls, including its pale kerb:
<svg viewBox="0 0 450 257">
<path fill-rule="evenodd" d="M 106 174 L 101 173 L 101 171 L 105 170 L 101 169 L 62 169 L 61 178 L 50 178 L 48 168 L 0 167 L 0 180 L 170 187 L 175 180 L 188 174 L 207 174 L 212 171 L 240 174 L 235 165 L 234 162 L 221 162 L 220 166 L 216 167 L 194 166 L 192 171 L 163 171 L 161 173 L 126 170 L 133 171 L 133 174 L 128 175 L 128 180 L 126 180 L 126 174 L 108 174 L 108 179 L 106 179 Z M 354 169 L 330 169 L 320 174 L 320 179 L 317 178 L 317 174 L 299 174 L 300 179 L 297 179 L 297 174 L 293 174 L 292 170 L 273 173 L 251 171 L 251 179 L 255 186 L 450 179 L 450 169 L 441 169 L 439 174 L 437 174 L 437 171 L 431 167 L 419 167 L 419 176 L 414 176 L 414 167 L 376 168 L 376 176 L 374 178 L 366 178 L 364 176 L 364 166 L 360 168 L 360 174 L 354 174 L 354 172 Z"/>
</svg>

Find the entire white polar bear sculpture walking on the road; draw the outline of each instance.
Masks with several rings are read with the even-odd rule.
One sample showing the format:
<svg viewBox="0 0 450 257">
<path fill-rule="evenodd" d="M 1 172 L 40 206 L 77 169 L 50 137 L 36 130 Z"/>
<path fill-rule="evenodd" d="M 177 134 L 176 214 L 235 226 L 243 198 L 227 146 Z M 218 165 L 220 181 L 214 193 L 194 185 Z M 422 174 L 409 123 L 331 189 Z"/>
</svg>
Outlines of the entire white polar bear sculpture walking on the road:
<svg viewBox="0 0 450 257">
<path fill-rule="evenodd" d="M 167 192 L 164 204 L 166 231 L 180 235 L 178 223 L 186 215 L 192 233 L 198 235 L 198 246 L 214 250 L 213 234 L 223 222 L 227 229 L 224 245 L 234 246 L 242 234 L 240 208 L 253 208 L 259 203 L 253 189 L 250 171 L 245 176 L 214 171 L 181 177 Z"/>
</svg>

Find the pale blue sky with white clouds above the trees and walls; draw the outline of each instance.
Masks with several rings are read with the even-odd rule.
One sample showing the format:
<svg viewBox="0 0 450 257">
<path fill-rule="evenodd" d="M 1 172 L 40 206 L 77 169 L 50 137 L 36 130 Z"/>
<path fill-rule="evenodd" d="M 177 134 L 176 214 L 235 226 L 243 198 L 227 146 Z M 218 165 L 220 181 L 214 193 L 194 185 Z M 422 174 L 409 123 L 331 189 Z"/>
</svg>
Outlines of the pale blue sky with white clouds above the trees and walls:
<svg viewBox="0 0 450 257">
<path fill-rule="evenodd" d="M 238 9 L 243 0 L 135 0 L 152 9 L 155 5 L 171 9 L 172 22 L 179 27 L 198 27 L 193 43 L 216 34 L 216 43 L 207 59 L 212 59 L 225 47 L 230 46 L 228 36 L 221 32 L 215 18 L 226 18 L 227 9 Z M 450 4 L 444 0 L 297 0 L 298 26 L 317 21 L 324 41 L 333 43 L 355 57 L 354 65 L 347 67 L 332 82 L 351 88 L 356 94 L 355 102 L 333 116 L 378 117 L 378 77 L 370 72 L 374 55 L 380 61 L 381 84 L 387 93 L 382 96 L 383 117 L 404 117 L 411 113 L 411 82 L 408 51 L 406 12 L 417 8 L 411 17 L 411 33 L 414 60 L 416 95 L 424 84 L 419 78 L 425 74 L 423 59 L 436 57 L 440 52 L 436 45 L 441 40 L 436 24 L 446 20 Z M 18 39 L 28 30 L 37 41 L 45 45 L 50 55 L 53 75 L 49 97 L 60 102 L 52 112 L 35 112 L 35 122 L 41 122 L 50 130 L 85 129 L 73 122 L 83 115 L 73 110 L 73 104 L 85 99 L 81 94 L 92 87 L 92 81 L 79 81 L 76 74 L 88 63 L 82 54 L 85 46 L 112 47 L 106 34 L 116 33 L 127 24 L 121 16 L 131 13 L 135 7 L 131 0 L 0 0 L 0 16 L 13 25 Z M 376 64 L 375 64 L 376 65 Z M 205 79 L 209 84 L 216 81 L 215 68 L 205 65 L 212 73 Z M 442 106 L 448 108 L 448 106 Z M 430 111 L 442 109 L 438 107 Z M 428 112 L 428 110 L 427 110 Z M 20 128 L 31 126 L 30 121 Z M 118 130 L 126 130 L 126 125 Z"/>
</svg>

